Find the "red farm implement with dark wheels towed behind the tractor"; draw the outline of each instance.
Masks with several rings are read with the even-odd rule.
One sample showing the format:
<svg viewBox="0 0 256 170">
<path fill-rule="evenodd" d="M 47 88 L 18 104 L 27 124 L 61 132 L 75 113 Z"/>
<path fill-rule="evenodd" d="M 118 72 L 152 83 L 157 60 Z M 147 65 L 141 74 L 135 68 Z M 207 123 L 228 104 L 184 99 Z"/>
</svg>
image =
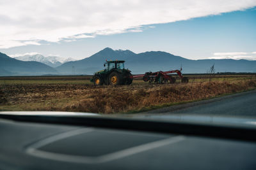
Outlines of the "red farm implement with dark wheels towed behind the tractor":
<svg viewBox="0 0 256 170">
<path fill-rule="evenodd" d="M 158 82 L 158 83 L 175 83 L 176 78 L 173 77 L 171 74 L 177 73 L 180 77 L 182 83 L 188 83 L 188 78 L 184 77 L 179 70 L 172 70 L 172 71 L 157 71 L 157 72 L 146 72 L 145 74 L 138 74 L 132 76 L 132 78 L 143 78 L 143 81 Z"/>
</svg>

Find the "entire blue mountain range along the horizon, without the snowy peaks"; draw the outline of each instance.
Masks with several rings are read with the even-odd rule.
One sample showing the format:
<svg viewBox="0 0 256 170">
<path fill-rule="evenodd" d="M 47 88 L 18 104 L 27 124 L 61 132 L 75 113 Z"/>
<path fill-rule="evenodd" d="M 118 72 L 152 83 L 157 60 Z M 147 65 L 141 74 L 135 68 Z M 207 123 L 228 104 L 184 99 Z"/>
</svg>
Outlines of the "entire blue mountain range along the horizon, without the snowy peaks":
<svg viewBox="0 0 256 170">
<path fill-rule="evenodd" d="M 40 56 L 37 57 L 40 58 Z M 130 50 L 104 48 L 90 57 L 65 62 L 55 68 L 36 61 L 25 62 L 13 59 L 0 53 L 0 74 L 93 74 L 104 68 L 103 64 L 106 60 L 125 60 L 125 67 L 130 69 L 132 74 L 140 74 L 147 71 L 168 71 L 180 69 L 181 66 L 182 73 L 207 73 L 212 64 L 214 64 L 216 72 L 256 73 L 256 60 L 190 60 L 166 52 L 134 53 Z"/>
</svg>

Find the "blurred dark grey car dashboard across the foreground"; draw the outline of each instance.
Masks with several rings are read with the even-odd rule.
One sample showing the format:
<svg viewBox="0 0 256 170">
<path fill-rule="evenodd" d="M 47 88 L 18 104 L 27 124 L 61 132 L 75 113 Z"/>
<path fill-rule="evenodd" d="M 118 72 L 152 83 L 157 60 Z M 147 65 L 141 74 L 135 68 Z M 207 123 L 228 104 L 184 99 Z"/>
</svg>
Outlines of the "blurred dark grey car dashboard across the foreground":
<svg viewBox="0 0 256 170">
<path fill-rule="evenodd" d="M 198 131 L 196 124 L 180 125 L 178 122 L 180 127 L 186 127 L 180 130 L 178 124 L 169 122 L 157 122 L 156 125 L 151 120 L 103 119 L 99 116 L 26 117 L 1 114 L 0 169 L 256 167 L 253 128 L 227 127 L 230 134 L 225 138 L 226 132 L 220 126 L 211 128 L 222 130 L 223 134 L 214 134 L 214 129 L 205 126 L 209 131 L 207 134 L 204 126 L 200 125 L 204 135 Z M 151 127 L 148 126 L 150 124 Z M 163 131 L 161 125 L 169 130 Z M 232 134 L 232 130 L 237 133 Z"/>
</svg>

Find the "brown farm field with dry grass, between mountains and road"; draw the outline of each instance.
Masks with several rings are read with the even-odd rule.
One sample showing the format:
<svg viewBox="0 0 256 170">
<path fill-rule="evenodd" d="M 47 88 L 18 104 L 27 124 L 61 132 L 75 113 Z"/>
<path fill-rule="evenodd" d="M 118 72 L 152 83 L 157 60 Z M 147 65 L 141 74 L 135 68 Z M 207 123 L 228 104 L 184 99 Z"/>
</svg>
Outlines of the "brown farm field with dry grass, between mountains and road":
<svg viewBox="0 0 256 170">
<path fill-rule="evenodd" d="M 256 89 L 255 75 L 189 76 L 189 83 L 94 87 L 89 76 L 2 77 L 0 111 L 135 113 Z"/>
</svg>

